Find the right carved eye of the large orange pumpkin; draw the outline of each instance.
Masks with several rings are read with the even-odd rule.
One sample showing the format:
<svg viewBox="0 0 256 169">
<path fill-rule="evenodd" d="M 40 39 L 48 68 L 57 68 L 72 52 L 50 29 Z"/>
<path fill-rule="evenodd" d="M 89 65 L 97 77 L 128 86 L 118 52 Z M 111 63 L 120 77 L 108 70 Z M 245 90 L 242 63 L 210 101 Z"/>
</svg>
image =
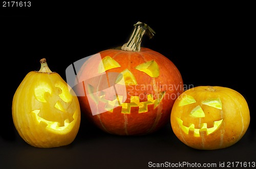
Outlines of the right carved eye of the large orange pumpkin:
<svg viewBox="0 0 256 169">
<path fill-rule="evenodd" d="M 158 77 L 160 70 L 156 61 L 148 61 L 135 67 L 135 69 L 146 73 L 151 77 Z"/>
</svg>

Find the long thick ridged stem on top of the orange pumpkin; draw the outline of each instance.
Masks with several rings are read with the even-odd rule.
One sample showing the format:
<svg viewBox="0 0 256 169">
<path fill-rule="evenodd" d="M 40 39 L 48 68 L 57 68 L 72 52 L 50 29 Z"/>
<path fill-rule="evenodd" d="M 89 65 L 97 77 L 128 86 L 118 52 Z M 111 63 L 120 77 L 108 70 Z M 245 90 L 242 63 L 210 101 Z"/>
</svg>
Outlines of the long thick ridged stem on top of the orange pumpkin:
<svg viewBox="0 0 256 169">
<path fill-rule="evenodd" d="M 154 36 L 155 31 L 151 29 L 150 26 L 148 26 L 145 23 L 137 22 L 134 24 L 134 31 L 129 39 L 129 41 L 122 46 L 122 50 L 125 51 L 140 51 L 140 44 L 143 35 L 146 33 L 147 36 L 150 37 L 150 39 Z"/>
</svg>

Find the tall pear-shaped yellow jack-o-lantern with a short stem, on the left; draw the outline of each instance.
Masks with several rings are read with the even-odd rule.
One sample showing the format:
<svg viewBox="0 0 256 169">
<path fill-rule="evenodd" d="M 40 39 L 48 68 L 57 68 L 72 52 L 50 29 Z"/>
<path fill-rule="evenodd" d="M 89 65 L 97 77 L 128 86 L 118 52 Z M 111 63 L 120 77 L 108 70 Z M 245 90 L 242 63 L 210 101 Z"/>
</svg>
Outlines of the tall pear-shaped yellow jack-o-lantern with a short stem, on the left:
<svg viewBox="0 0 256 169">
<path fill-rule="evenodd" d="M 74 91 L 52 72 L 46 59 L 18 86 L 12 117 L 18 134 L 31 146 L 53 148 L 73 142 L 80 126 L 80 106 Z"/>
</svg>

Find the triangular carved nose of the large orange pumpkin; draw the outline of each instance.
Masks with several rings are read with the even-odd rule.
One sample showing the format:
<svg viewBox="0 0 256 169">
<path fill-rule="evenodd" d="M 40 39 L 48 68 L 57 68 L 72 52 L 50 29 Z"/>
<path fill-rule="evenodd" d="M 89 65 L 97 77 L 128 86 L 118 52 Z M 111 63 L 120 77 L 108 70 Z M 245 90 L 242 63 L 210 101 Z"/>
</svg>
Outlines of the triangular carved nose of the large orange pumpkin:
<svg viewBox="0 0 256 169">
<path fill-rule="evenodd" d="M 130 70 L 123 70 L 116 78 L 116 83 L 119 85 L 138 85 L 136 78 Z"/>
</svg>

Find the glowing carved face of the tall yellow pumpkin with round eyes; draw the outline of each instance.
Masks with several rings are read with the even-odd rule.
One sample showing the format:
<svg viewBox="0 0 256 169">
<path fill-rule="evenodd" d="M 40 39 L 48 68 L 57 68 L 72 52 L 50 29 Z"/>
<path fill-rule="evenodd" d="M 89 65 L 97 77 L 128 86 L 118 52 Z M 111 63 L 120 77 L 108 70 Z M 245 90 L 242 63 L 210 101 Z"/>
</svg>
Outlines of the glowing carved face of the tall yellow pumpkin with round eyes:
<svg viewBox="0 0 256 169">
<path fill-rule="evenodd" d="M 76 122 L 77 103 L 63 81 L 55 81 L 54 86 L 45 79 L 33 88 L 35 97 L 31 115 L 35 123 L 43 123 L 46 130 L 53 133 L 67 134 Z M 76 110 L 76 111 L 74 111 Z M 49 113 L 50 112 L 50 113 Z"/>
</svg>

